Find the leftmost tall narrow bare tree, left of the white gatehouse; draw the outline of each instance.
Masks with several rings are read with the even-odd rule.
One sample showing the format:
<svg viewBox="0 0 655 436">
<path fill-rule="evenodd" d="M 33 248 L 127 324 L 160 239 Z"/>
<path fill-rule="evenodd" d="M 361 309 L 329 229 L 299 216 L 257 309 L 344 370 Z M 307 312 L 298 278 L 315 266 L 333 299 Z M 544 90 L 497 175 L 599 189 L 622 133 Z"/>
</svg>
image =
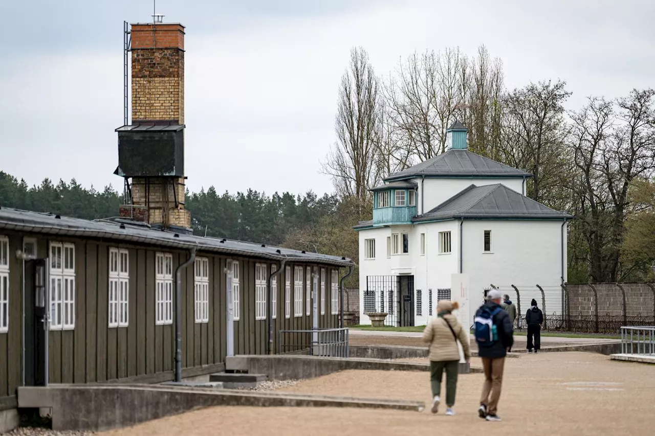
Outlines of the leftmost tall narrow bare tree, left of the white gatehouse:
<svg viewBox="0 0 655 436">
<path fill-rule="evenodd" d="M 339 87 L 337 142 L 323 171 L 331 175 L 339 195 L 358 200 L 362 213 L 370 200 L 368 190 L 379 181 L 380 110 L 379 84 L 368 54 L 364 48 L 353 48 Z"/>
</svg>

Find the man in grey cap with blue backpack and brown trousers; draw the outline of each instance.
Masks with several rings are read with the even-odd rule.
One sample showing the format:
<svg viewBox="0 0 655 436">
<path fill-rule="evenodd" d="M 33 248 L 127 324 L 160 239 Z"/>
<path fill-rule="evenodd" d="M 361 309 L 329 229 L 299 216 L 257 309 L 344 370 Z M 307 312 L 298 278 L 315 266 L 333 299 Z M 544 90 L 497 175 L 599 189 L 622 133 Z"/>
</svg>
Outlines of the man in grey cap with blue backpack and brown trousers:
<svg viewBox="0 0 655 436">
<path fill-rule="evenodd" d="M 477 413 L 487 421 L 500 421 L 498 400 L 502 388 L 502 373 L 507 350 L 514 344 L 514 329 L 510 316 L 500 306 L 502 293 L 492 289 L 487 302 L 480 306 L 474 318 L 477 354 L 482 358 L 485 384 Z"/>
</svg>

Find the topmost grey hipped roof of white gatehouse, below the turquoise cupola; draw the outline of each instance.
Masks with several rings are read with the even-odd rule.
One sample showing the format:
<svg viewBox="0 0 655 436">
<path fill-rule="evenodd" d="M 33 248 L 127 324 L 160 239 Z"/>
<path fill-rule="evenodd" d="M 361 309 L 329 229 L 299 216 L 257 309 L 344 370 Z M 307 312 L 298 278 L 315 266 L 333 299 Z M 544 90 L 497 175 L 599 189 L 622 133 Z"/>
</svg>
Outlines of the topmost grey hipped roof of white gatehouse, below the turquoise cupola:
<svg viewBox="0 0 655 436">
<path fill-rule="evenodd" d="M 389 175 L 384 180 L 392 181 L 422 175 L 426 177 L 532 177 L 532 174 L 523 170 L 517 170 L 471 151 L 451 149 L 407 170 Z"/>
</svg>

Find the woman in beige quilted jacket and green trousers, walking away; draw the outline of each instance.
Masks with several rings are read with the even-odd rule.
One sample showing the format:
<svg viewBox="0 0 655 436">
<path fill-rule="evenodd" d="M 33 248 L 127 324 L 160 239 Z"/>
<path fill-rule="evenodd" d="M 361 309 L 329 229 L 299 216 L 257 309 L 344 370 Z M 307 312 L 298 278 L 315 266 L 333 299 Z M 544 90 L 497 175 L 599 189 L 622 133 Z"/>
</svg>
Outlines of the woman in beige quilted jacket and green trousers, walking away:
<svg viewBox="0 0 655 436">
<path fill-rule="evenodd" d="M 467 329 L 451 313 L 457 309 L 457 301 L 440 301 L 437 316 L 430 319 L 423 331 L 423 342 L 430 342 L 430 385 L 432 386 L 432 413 L 439 411 L 441 376 L 446 372 L 446 414 L 454 415 L 455 393 L 457 391 L 457 372 L 459 367 L 459 348 L 462 344 L 464 358 L 471 358 L 470 339 Z"/>
</svg>

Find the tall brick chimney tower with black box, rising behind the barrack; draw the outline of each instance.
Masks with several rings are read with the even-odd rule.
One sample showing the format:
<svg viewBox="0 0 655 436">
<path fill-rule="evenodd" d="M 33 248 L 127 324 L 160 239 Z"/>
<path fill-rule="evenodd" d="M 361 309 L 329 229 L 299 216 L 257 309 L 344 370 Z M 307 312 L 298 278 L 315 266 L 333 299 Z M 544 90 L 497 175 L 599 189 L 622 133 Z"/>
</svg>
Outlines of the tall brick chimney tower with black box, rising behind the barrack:
<svg viewBox="0 0 655 436">
<path fill-rule="evenodd" d="M 132 121 L 116 130 L 115 174 L 126 181 L 120 215 L 191 232 L 191 214 L 184 207 L 184 26 L 156 17 L 130 26 Z"/>
</svg>

